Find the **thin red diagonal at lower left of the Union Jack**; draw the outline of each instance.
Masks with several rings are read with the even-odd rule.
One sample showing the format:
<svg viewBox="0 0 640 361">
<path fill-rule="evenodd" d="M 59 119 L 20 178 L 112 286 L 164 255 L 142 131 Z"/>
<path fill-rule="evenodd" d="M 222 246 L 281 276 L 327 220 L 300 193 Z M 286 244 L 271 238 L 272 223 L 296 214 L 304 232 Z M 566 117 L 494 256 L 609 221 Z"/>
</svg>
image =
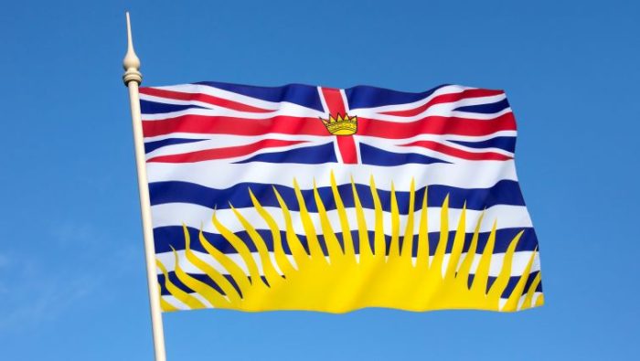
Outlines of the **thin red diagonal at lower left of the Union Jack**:
<svg viewBox="0 0 640 361">
<path fill-rule="evenodd" d="M 207 149 L 204 151 L 190 152 L 184 154 L 159 155 L 147 160 L 148 163 L 193 163 L 208 161 L 213 159 L 233 158 L 247 155 L 264 148 L 280 147 L 306 143 L 306 141 L 283 141 L 278 139 L 264 139 L 256 143 L 239 146 L 229 146 L 226 148 Z"/>
</svg>

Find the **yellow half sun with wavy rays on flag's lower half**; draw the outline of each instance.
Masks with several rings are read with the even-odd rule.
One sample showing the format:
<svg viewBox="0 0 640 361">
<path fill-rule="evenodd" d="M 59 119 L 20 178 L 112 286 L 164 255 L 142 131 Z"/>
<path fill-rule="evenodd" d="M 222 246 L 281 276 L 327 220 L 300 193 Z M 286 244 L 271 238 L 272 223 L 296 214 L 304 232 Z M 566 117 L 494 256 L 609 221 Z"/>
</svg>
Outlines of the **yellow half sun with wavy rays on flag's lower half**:
<svg viewBox="0 0 640 361">
<path fill-rule="evenodd" d="M 534 301 L 534 293 L 539 286 L 540 273 L 525 286 L 537 250 L 531 253 L 528 264 L 517 281 L 517 285 L 510 293 L 506 302 L 500 303 L 500 296 L 507 287 L 511 275 L 511 266 L 517 242 L 522 235 L 520 231 L 509 243 L 504 255 L 501 269 L 497 278 L 487 289 L 489 283 L 489 266 L 493 257 L 496 242 L 496 222 L 487 239 L 485 249 L 475 270 L 473 281 L 469 282 L 472 263 L 478 244 L 478 234 L 482 216 L 475 225 L 475 232 L 469 250 L 463 254 L 465 235 L 465 207 L 458 220 L 453 237 L 453 247 L 445 259 L 445 249 L 449 242 L 449 197 L 442 205 L 440 239 L 434 256 L 430 260 L 429 254 L 429 219 L 427 217 L 427 193 L 421 199 L 421 208 L 415 211 L 415 186 L 411 182 L 409 214 L 406 228 L 400 243 L 400 212 L 395 189 L 391 185 L 390 214 L 391 240 L 389 248 L 385 243 L 383 233 L 382 205 L 373 177 L 370 180 L 370 192 L 374 201 L 375 222 L 368 225 L 363 207 L 357 195 L 356 186 L 351 182 L 355 201 L 356 219 L 348 219 L 342 197 L 336 186 L 336 179 L 331 174 L 331 189 L 336 202 L 340 219 L 339 229 L 329 222 L 325 204 L 314 185 L 315 206 L 318 210 L 322 234 L 328 256 L 325 256 L 318 240 L 312 218 L 307 211 L 304 197 L 297 182 L 293 180 L 295 196 L 300 208 L 300 218 L 304 226 L 304 236 L 308 243 L 308 252 L 293 231 L 292 215 L 280 196 L 273 188 L 273 192 L 280 204 L 285 219 L 285 239 L 281 237 L 281 229 L 272 215 L 261 206 L 258 199 L 249 191 L 253 207 L 271 229 L 273 239 L 273 258 L 270 257 L 266 243 L 251 223 L 242 216 L 238 209 L 232 207 L 244 229 L 249 234 L 261 260 L 262 275 L 256 261 L 251 256 L 249 247 L 237 235 L 219 222 L 214 212 L 213 225 L 229 243 L 238 251 L 244 261 L 249 275 L 239 264 L 214 247 L 200 231 L 198 241 L 208 254 L 219 262 L 226 273 L 235 282 L 232 284 L 221 272 L 202 260 L 191 250 L 191 239 L 187 228 L 184 227 L 186 240 L 186 260 L 206 274 L 211 281 L 219 286 L 219 290 L 203 281 L 199 281 L 187 274 L 180 265 L 176 250 L 176 277 L 193 292 L 188 293 L 175 284 L 168 277 L 165 265 L 156 260 L 158 268 L 165 274 L 165 288 L 178 301 L 190 309 L 215 308 L 235 309 L 242 311 L 267 310 L 312 310 L 329 313 L 344 313 L 363 307 L 388 307 L 411 311 L 427 311 L 440 309 L 484 309 L 493 311 L 517 311 L 544 303 L 544 297 L 539 294 Z M 357 223 L 359 254 L 354 250 L 354 243 L 350 232 L 350 222 Z M 417 242 L 417 257 L 412 258 L 413 228 L 419 228 Z M 373 248 L 370 247 L 370 228 L 374 229 Z M 336 238 L 336 231 L 342 232 L 344 248 Z M 288 257 L 283 250 L 286 242 L 292 257 Z M 401 245 L 401 247 L 400 247 Z M 185 260 L 183 260 L 185 261 Z M 525 295 L 522 300 L 522 295 Z M 210 304 L 203 302 L 203 299 Z M 162 300 L 164 311 L 176 311 L 175 306 Z"/>
</svg>

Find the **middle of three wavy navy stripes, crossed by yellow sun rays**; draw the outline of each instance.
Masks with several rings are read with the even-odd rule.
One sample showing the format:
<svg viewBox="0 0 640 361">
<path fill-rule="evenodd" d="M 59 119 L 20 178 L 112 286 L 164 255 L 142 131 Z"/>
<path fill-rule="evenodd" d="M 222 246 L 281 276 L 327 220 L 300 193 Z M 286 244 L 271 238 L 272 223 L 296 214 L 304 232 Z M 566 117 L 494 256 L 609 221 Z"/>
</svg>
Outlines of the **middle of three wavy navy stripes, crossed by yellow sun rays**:
<svg viewBox="0 0 640 361">
<path fill-rule="evenodd" d="M 337 230 L 337 228 L 339 228 L 339 225 L 334 225 L 334 230 Z M 207 250 L 205 250 L 202 245 L 200 244 L 199 241 L 199 230 L 197 228 L 191 228 L 191 227 L 187 227 L 187 231 L 189 233 L 189 237 L 191 238 L 191 249 L 192 250 L 199 250 L 201 252 L 205 252 L 207 253 Z M 535 250 L 536 247 L 538 246 L 538 239 L 536 237 L 536 232 L 534 231 L 533 228 L 502 228 L 502 229 L 497 229 L 496 230 L 496 245 L 494 247 L 494 253 L 499 253 L 499 252 L 505 252 L 507 250 L 507 247 L 509 245 L 509 243 L 511 242 L 512 239 L 514 239 L 514 237 L 516 237 L 517 233 L 520 231 L 524 231 L 524 233 L 522 234 L 522 237 L 520 238 L 520 240 L 517 243 L 517 247 L 516 250 Z M 272 238 L 272 233 L 271 230 L 267 230 L 267 229 L 257 229 L 257 232 L 261 235 L 262 239 L 264 240 L 264 243 L 267 246 L 268 250 L 273 250 L 273 238 Z M 227 239 L 225 239 L 224 237 L 222 237 L 221 235 L 217 234 L 217 233 L 208 233 L 208 232 L 203 232 L 205 238 L 208 240 L 209 243 L 211 243 L 212 245 L 214 245 L 218 250 L 220 250 L 223 253 L 237 253 L 237 251 L 233 248 L 233 246 L 231 246 L 231 244 L 229 243 L 229 241 L 227 241 Z M 400 232 L 402 233 L 402 232 Z M 485 245 L 486 245 L 486 239 L 488 239 L 489 237 L 489 233 L 490 232 L 481 232 L 479 233 L 478 236 L 478 248 L 476 250 L 476 252 L 481 253 L 483 250 L 485 250 Z M 238 238 L 240 238 L 249 248 L 249 250 L 251 250 L 252 252 L 257 251 L 255 248 L 255 245 L 253 244 L 253 241 L 251 240 L 251 237 L 249 237 L 249 234 L 246 231 L 240 231 L 240 232 L 236 232 L 235 233 L 236 236 L 238 236 Z M 282 243 L 283 243 L 283 250 L 285 253 L 287 254 L 291 254 L 291 250 L 289 250 L 289 245 L 286 241 L 286 232 L 285 231 L 281 231 L 281 239 L 282 239 Z M 374 231 L 369 231 L 368 232 L 368 239 L 369 239 L 369 244 L 371 249 L 373 249 L 373 239 L 374 239 L 374 235 L 375 232 Z M 455 236 L 455 231 L 450 231 L 449 232 L 449 242 L 447 243 L 447 247 L 446 247 L 446 251 L 447 252 L 451 252 L 452 246 L 453 246 L 453 237 Z M 319 241 L 320 241 L 320 247 L 322 247 L 323 251 L 325 252 L 325 255 L 328 255 L 328 253 L 326 252 L 326 246 L 325 246 L 325 238 L 323 235 L 318 235 L 317 236 Z M 342 232 L 337 232 L 336 233 L 336 237 L 338 239 L 338 241 L 340 242 L 340 245 L 343 246 L 344 249 L 344 243 L 342 240 Z M 473 233 L 466 233 L 464 236 L 464 248 L 463 250 L 466 251 L 469 249 L 469 246 L 471 245 L 471 239 L 473 237 Z M 307 252 L 309 251 L 308 246 L 307 246 L 307 241 L 306 241 L 306 237 L 304 235 L 298 235 L 298 238 L 300 239 L 300 242 L 303 244 L 304 249 L 307 250 Z M 171 247 L 175 248 L 176 250 L 184 250 L 185 249 L 185 235 L 184 235 L 184 230 L 181 226 L 167 226 L 167 227 L 158 227 L 158 228 L 154 228 L 154 239 L 155 239 L 155 252 L 156 253 L 164 253 L 164 252 L 169 252 L 171 251 Z M 356 250 L 357 253 L 359 253 L 359 247 L 358 247 L 358 233 L 357 230 L 352 230 L 351 231 L 351 239 L 353 239 L 354 241 L 354 249 Z M 430 232 L 429 233 L 429 253 L 430 255 L 435 254 L 435 248 L 438 245 L 438 240 L 440 239 L 440 232 Z M 389 235 L 385 235 L 385 241 L 387 242 L 387 250 L 389 250 L 389 244 L 391 241 L 391 236 Z M 400 236 L 400 246 L 402 244 L 402 236 Z M 417 255 L 417 250 L 418 250 L 418 236 L 415 235 L 413 237 L 413 256 L 415 257 Z"/>
</svg>

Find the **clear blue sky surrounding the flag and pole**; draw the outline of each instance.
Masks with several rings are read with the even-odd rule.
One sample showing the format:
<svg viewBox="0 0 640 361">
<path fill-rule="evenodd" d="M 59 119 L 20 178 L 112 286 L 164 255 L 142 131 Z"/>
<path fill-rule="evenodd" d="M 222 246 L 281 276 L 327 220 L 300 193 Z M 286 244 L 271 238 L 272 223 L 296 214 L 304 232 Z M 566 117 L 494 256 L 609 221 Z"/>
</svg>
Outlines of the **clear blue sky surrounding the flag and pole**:
<svg viewBox="0 0 640 361">
<path fill-rule="evenodd" d="M 638 355 L 640 3 L 65 3 L 0 11 L 0 359 L 152 357 L 125 9 L 146 85 L 507 90 L 541 247 L 539 309 L 170 313 L 170 360 Z"/>
</svg>

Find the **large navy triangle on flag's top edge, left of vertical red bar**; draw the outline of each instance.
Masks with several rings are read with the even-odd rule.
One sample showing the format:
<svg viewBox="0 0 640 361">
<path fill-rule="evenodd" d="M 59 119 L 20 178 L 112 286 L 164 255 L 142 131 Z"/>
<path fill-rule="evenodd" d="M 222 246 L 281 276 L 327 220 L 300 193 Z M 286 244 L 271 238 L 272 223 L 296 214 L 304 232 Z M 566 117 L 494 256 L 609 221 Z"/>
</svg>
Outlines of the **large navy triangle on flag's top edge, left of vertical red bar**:
<svg viewBox="0 0 640 361">
<path fill-rule="evenodd" d="M 229 84 L 217 81 L 202 81 L 196 84 L 233 91 L 262 101 L 288 101 L 307 108 L 315 109 L 316 111 L 324 111 L 318 89 L 311 85 L 288 84 L 282 87 L 256 87 L 252 85 Z"/>
</svg>

